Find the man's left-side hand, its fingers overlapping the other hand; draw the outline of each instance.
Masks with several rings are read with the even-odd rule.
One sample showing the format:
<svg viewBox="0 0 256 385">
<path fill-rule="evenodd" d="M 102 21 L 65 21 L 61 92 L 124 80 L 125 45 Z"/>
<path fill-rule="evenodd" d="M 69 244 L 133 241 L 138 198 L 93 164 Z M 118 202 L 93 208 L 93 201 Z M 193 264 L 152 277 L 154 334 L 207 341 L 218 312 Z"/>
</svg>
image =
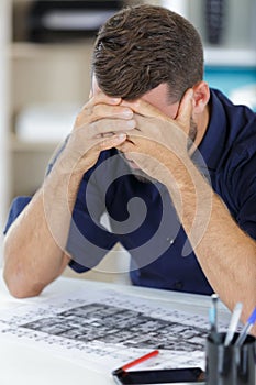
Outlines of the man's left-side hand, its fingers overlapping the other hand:
<svg viewBox="0 0 256 385">
<path fill-rule="evenodd" d="M 135 129 L 132 109 L 121 101 L 97 92 L 84 106 L 62 156 L 67 172 L 84 174 L 96 164 L 101 151 L 122 144 L 126 133 Z"/>
</svg>

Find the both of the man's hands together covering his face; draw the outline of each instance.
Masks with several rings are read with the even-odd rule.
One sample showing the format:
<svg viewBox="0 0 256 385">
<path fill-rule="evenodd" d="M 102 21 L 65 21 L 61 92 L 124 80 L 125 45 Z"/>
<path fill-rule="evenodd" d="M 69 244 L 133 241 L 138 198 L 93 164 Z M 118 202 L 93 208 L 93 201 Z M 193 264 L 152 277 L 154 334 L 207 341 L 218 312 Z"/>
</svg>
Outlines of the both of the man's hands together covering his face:
<svg viewBox="0 0 256 385">
<path fill-rule="evenodd" d="M 62 160 L 69 172 L 84 174 L 101 151 L 118 147 L 151 177 L 164 182 L 165 167 L 188 156 L 192 90 L 183 96 L 177 117 L 170 119 L 140 99 L 110 98 L 98 91 L 78 114 Z"/>
</svg>

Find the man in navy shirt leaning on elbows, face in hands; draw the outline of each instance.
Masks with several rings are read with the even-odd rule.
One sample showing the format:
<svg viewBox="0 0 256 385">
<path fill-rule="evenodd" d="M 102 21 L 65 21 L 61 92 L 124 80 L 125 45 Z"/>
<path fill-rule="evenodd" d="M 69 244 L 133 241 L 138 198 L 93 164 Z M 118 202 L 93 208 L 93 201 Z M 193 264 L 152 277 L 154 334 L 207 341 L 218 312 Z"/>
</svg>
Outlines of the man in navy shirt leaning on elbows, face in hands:
<svg viewBox="0 0 256 385">
<path fill-rule="evenodd" d="M 245 321 L 256 305 L 255 113 L 209 89 L 197 31 L 160 7 L 112 16 L 92 74 L 42 187 L 12 206 L 10 292 L 38 295 L 67 264 L 87 271 L 119 241 L 135 285 L 214 290 L 230 309 L 242 301 Z"/>
</svg>

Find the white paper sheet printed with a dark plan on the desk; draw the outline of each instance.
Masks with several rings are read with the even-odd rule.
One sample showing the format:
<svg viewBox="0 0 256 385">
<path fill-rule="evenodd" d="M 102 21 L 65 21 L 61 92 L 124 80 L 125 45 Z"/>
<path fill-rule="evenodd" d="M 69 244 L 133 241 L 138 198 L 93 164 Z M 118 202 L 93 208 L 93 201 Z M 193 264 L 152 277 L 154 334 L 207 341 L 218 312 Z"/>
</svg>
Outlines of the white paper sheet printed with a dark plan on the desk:
<svg viewBox="0 0 256 385">
<path fill-rule="evenodd" d="M 224 327 L 224 324 L 223 324 Z M 0 339 L 30 344 L 111 372 L 154 349 L 135 369 L 204 369 L 208 319 L 115 290 L 74 293 L 0 314 Z"/>
</svg>

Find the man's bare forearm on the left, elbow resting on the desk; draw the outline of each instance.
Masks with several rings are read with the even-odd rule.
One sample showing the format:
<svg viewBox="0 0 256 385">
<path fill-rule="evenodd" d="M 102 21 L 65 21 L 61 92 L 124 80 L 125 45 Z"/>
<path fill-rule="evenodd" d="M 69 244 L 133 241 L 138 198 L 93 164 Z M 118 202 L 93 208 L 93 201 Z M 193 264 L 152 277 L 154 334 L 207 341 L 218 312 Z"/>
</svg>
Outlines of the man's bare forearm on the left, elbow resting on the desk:
<svg viewBox="0 0 256 385">
<path fill-rule="evenodd" d="M 69 262 L 65 246 L 79 183 L 54 168 L 9 229 L 3 274 L 14 296 L 38 295 Z"/>
</svg>

